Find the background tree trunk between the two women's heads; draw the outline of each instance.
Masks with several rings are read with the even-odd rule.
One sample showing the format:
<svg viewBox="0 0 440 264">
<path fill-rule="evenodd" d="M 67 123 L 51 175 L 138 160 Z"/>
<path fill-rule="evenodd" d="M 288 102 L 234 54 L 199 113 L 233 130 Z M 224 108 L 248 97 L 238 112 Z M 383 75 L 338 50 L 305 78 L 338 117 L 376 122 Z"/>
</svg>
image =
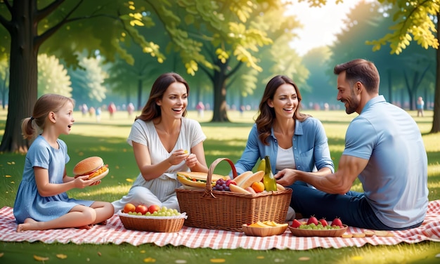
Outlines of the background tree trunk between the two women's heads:
<svg viewBox="0 0 440 264">
<path fill-rule="evenodd" d="M 226 107 L 226 63 L 218 62 L 219 71 L 214 71 L 214 108 L 212 122 L 229 122 Z"/>
</svg>

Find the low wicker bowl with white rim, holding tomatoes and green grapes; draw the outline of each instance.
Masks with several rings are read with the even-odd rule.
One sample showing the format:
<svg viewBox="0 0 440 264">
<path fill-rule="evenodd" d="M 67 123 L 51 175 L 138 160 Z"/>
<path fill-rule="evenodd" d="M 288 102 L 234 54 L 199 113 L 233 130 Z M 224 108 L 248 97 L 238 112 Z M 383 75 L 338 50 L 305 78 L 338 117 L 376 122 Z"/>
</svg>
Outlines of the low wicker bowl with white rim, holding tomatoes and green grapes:
<svg viewBox="0 0 440 264">
<path fill-rule="evenodd" d="M 149 232 L 178 232 L 187 218 L 186 213 L 180 216 L 134 216 L 119 211 L 117 214 L 125 229 Z"/>
</svg>

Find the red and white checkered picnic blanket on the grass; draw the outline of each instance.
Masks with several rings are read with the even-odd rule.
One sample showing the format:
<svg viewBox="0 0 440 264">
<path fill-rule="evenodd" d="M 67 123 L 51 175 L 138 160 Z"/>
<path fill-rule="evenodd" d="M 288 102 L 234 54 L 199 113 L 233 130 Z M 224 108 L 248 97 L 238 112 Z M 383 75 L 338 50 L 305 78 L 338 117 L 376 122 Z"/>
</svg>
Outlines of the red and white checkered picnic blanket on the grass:
<svg viewBox="0 0 440 264">
<path fill-rule="evenodd" d="M 429 202 L 427 216 L 422 226 L 411 230 L 393 231 L 392 237 L 295 237 L 290 230 L 283 235 L 271 237 L 248 237 L 242 232 L 207 230 L 194 227 L 183 228 L 179 232 L 161 233 L 126 230 L 119 216 L 114 215 L 107 225 L 95 225 L 90 230 L 66 228 L 62 230 L 16 232 L 17 224 L 13 209 L 4 206 L 0 209 L 0 241 L 4 242 L 59 242 L 63 244 L 122 244 L 134 246 L 153 243 L 157 246 L 171 244 L 189 248 L 211 249 L 295 249 L 307 250 L 318 247 L 339 249 L 345 246 L 361 247 L 365 244 L 395 245 L 402 242 L 414 244 L 422 241 L 440 242 L 440 200 Z M 349 227 L 347 233 L 360 233 L 365 230 Z"/>
</svg>

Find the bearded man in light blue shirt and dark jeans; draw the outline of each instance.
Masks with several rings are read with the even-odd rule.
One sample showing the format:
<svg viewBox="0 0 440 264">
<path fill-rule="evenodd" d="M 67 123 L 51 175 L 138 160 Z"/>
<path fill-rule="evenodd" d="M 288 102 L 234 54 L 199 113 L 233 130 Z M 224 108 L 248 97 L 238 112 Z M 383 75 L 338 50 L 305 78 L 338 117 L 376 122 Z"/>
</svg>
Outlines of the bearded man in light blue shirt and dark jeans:
<svg viewBox="0 0 440 264">
<path fill-rule="evenodd" d="M 302 180 L 316 187 L 291 185 L 292 207 L 308 217 L 333 219 L 372 230 L 407 230 L 427 213 L 427 153 L 414 119 L 379 95 L 380 76 L 368 60 L 334 69 L 337 100 L 347 114 L 358 113 L 345 137 L 335 173 L 316 176 L 295 169 L 276 174 L 278 183 Z M 358 178 L 363 192 L 350 191 Z"/>
</svg>

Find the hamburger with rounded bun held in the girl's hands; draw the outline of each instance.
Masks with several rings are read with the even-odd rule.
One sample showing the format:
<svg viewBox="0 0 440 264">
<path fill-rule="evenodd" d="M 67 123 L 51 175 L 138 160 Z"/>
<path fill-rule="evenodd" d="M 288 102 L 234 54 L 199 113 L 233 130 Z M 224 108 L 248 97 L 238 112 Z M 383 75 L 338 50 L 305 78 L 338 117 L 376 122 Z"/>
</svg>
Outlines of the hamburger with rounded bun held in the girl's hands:
<svg viewBox="0 0 440 264">
<path fill-rule="evenodd" d="M 104 164 L 101 157 L 88 157 L 79 161 L 73 168 L 75 178 L 79 176 L 89 176 L 89 180 L 93 178 L 103 178 L 108 174 L 108 164 Z"/>
</svg>

